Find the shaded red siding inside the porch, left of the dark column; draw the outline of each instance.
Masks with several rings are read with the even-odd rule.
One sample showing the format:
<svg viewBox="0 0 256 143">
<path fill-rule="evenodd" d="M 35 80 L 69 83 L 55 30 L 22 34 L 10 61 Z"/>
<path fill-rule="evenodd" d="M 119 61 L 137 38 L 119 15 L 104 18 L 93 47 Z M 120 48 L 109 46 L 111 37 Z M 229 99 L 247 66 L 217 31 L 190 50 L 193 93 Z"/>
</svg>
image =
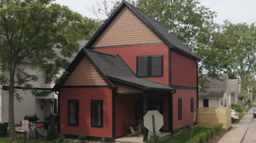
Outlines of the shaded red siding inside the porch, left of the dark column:
<svg viewBox="0 0 256 143">
<path fill-rule="evenodd" d="M 136 125 L 136 101 L 140 101 L 142 105 L 142 95 L 116 96 L 116 137 L 126 135 L 130 132 L 128 124 L 133 126 Z"/>
</svg>

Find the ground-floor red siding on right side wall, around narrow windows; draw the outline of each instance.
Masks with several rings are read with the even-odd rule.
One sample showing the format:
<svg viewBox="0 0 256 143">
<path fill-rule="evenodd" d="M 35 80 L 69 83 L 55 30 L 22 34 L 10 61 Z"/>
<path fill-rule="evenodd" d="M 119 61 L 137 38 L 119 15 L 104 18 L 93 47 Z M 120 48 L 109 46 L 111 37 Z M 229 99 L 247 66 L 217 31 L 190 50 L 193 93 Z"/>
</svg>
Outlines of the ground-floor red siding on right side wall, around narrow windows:
<svg viewBox="0 0 256 143">
<path fill-rule="evenodd" d="M 173 94 L 173 108 L 175 109 L 173 110 L 173 130 L 192 123 L 193 112 L 191 112 L 191 97 L 194 97 L 194 111 L 197 111 L 197 90 L 177 89 L 176 93 Z M 182 119 L 180 120 L 178 104 L 179 98 L 182 98 Z"/>
</svg>

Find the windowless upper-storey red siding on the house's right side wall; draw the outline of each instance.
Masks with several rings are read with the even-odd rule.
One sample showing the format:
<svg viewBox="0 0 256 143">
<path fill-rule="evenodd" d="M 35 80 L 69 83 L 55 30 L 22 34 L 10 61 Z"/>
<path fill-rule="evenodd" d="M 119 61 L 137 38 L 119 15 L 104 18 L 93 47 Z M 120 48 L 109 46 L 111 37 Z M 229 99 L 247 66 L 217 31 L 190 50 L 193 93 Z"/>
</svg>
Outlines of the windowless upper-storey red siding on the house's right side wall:
<svg viewBox="0 0 256 143">
<path fill-rule="evenodd" d="M 174 51 L 171 58 L 172 85 L 197 87 L 197 62 Z"/>
</svg>

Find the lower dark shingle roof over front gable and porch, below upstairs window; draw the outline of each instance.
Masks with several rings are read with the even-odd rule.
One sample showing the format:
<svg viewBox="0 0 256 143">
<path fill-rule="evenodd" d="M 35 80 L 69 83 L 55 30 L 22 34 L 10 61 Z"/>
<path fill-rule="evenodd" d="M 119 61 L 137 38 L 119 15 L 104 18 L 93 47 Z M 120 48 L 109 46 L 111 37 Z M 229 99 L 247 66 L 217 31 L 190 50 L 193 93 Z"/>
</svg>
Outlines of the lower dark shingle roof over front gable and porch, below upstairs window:
<svg viewBox="0 0 256 143">
<path fill-rule="evenodd" d="M 123 84 L 140 86 L 145 90 L 175 90 L 166 84 L 152 81 L 146 78 L 138 78 L 130 67 L 117 55 L 109 55 L 93 50 L 84 49 L 89 58 L 99 68 L 99 70 L 111 81 Z"/>
</svg>

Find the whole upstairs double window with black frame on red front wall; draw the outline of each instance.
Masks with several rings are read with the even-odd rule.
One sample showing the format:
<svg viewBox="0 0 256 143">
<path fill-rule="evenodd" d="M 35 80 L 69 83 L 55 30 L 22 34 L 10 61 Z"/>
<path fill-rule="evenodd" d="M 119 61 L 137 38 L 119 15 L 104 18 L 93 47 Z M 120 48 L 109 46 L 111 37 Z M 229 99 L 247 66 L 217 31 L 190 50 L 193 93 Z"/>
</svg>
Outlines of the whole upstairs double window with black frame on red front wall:
<svg viewBox="0 0 256 143">
<path fill-rule="evenodd" d="M 163 55 L 137 56 L 137 76 L 163 76 Z"/>
</svg>

